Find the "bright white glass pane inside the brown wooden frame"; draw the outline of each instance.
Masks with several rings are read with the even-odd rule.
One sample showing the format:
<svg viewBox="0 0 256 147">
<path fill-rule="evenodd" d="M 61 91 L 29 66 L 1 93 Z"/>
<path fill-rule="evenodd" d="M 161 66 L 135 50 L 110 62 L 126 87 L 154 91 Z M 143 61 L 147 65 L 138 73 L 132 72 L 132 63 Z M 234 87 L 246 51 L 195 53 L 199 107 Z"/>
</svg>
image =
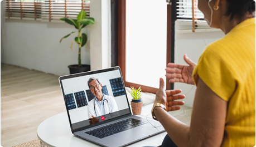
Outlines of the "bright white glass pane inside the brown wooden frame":
<svg viewBox="0 0 256 147">
<path fill-rule="evenodd" d="M 127 82 L 158 89 L 159 78 L 166 79 L 166 7 L 165 1 L 126 1 Z"/>
</svg>

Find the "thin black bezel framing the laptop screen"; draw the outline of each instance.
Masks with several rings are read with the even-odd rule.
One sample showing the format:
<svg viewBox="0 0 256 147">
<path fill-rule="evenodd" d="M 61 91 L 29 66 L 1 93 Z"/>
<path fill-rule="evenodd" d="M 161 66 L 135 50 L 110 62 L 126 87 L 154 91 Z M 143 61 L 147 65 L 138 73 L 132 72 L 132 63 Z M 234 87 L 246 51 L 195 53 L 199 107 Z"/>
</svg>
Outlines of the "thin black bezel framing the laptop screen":
<svg viewBox="0 0 256 147">
<path fill-rule="evenodd" d="M 96 123 L 96 124 L 92 124 L 92 125 L 88 125 L 88 126 L 82 126 L 81 128 L 73 129 L 73 126 L 72 126 L 72 123 L 71 123 L 71 119 L 70 119 L 70 115 L 69 115 L 69 110 L 67 108 L 67 102 L 66 102 L 66 99 L 65 99 L 65 94 L 64 94 L 64 89 L 63 89 L 63 85 L 62 85 L 62 80 L 71 79 L 71 78 L 80 77 L 80 76 L 88 76 L 88 75 L 93 75 L 93 74 L 96 74 L 96 73 L 103 73 L 103 72 L 114 71 L 114 70 L 119 70 L 119 72 L 120 72 L 120 76 L 121 76 L 121 79 L 122 79 L 122 84 L 123 84 L 123 87 L 124 87 L 124 93 L 125 93 L 125 96 L 126 96 L 128 107 L 129 107 L 129 113 L 125 114 L 125 115 L 122 115 L 122 116 L 114 117 L 113 119 L 102 121 L 102 122 L 99 122 L 99 123 Z M 123 75 L 122 75 L 122 72 L 121 72 L 121 69 L 120 69 L 119 66 L 111 67 L 111 68 L 106 68 L 106 69 L 103 69 L 103 70 L 95 70 L 95 71 L 75 73 L 75 74 L 72 74 L 72 75 L 60 76 L 59 77 L 59 82 L 60 82 L 61 92 L 62 92 L 64 101 L 65 101 L 67 116 L 69 117 L 70 128 L 71 128 L 71 131 L 72 131 L 73 134 L 76 131 L 81 131 L 81 130 L 84 130 L 84 129 L 92 128 L 94 126 L 98 126 L 98 125 L 102 125 L 102 124 L 105 124 L 105 123 L 109 123 L 110 121 L 117 120 L 117 119 L 120 119 L 120 118 L 132 115 L 131 107 L 129 105 L 129 101 L 128 101 L 128 97 L 127 97 L 127 92 L 126 92 L 125 86 L 124 86 Z"/>
</svg>

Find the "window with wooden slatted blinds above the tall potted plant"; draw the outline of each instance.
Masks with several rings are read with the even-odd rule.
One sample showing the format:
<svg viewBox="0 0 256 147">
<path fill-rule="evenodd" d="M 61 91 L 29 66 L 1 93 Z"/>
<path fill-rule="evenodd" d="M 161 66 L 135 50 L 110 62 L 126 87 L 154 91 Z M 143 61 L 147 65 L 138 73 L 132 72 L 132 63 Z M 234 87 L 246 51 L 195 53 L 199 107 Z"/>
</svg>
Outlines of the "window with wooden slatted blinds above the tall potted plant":
<svg viewBox="0 0 256 147">
<path fill-rule="evenodd" d="M 88 0 L 6 0 L 5 18 L 37 21 L 59 21 L 60 18 L 73 18 L 84 9 L 90 15 Z"/>
</svg>

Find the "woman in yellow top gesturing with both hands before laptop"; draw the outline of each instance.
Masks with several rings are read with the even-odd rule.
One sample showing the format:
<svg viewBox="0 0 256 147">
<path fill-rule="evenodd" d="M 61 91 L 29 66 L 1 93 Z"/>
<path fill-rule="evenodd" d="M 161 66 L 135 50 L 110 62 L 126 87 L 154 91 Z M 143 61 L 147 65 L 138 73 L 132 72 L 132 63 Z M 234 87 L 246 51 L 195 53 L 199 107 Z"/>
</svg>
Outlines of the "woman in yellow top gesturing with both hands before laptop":
<svg viewBox="0 0 256 147">
<path fill-rule="evenodd" d="M 168 135 L 162 146 L 255 146 L 256 144 L 256 10 L 254 0 L 199 0 L 210 27 L 225 36 L 205 48 L 198 64 L 168 63 L 170 82 L 197 86 L 191 124 L 187 126 L 162 107 L 153 109 Z M 163 79 L 155 104 L 180 109 L 174 99 L 180 90 L 164 90 Z M 170 136 L 170 137 L 169 137 Z"/>
</svg>

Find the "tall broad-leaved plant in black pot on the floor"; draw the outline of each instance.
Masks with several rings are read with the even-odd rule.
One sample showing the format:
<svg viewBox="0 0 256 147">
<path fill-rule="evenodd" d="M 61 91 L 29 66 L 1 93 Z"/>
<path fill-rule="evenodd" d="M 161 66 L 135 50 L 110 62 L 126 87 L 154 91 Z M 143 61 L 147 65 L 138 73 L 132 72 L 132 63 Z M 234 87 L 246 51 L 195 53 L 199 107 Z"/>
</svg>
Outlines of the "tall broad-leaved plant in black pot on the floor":
<svg viewBox="0 0 256 147">
<path fill-rule="evenodd" d="M 81 9 L 81 12 L 78 14 L 77 19 L 71 19 L 71 18 L 60 18 L 61 21 L 65 21 L 66 23 L 69 23 L 70 25 L 75 26 L 75 28 L 78 30 L 78 34 L 76 35 L 75 39 L 71 42 L 71 50 L 73 46 L 73 42 L 75 41 L 78 43 L 79 50 L 78 50 L 78 65 L 69 65 L 69 71 L 70 74 L 73 73 L 79 73 L 79 72 L 85 72 L 90 71 L 90 65 L 82 65 L 81 64 L 81 47 L 83 47 L 87 42 L 87 36 L 85 33 L 81 33 L 81 30 L 86 27 L 87 25 L 93 25 L 95 23 L 94 18 L 92 17 L 85 17 L 86 12 Z M 75 32 L 71 32 L 70 34 L 64 36 L 61 38 L 60 42 L 69 37 L 71 34 Z"/>
</svg>

